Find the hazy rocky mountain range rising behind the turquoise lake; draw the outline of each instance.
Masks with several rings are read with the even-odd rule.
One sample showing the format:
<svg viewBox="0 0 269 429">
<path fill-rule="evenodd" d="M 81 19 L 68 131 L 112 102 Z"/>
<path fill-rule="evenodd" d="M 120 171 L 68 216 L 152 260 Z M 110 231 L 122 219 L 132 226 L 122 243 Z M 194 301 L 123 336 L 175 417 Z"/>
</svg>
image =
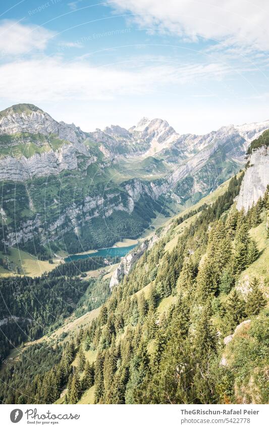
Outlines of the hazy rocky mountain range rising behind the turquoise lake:
<svg viewBox="0 0 269 429">
<path fill-rule="evenodd" d="M 0 112 L 2 247 L 79 252 L 136 238 L 237 173 L 269 120 L 179 134 L 162 119 L 84 132 L 34 105 Z"/>
</svg>

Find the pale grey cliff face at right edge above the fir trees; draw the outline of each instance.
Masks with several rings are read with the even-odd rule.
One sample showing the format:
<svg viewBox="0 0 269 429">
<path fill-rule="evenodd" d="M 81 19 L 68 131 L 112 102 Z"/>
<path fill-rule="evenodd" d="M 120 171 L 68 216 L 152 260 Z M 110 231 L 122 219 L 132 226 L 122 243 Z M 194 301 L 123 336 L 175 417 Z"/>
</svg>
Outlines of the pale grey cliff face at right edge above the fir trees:
<svg viewBox="0 0 269 429">
<path fill-rule="evenodd" d="M 249 166 L 245 172 L 236 208 L 248 210 L 259 197 L 263 197 L 269 183 L 269 156 L 268 148 L 262 146 L 254 151 L 249 159 Z"/>
</svg>

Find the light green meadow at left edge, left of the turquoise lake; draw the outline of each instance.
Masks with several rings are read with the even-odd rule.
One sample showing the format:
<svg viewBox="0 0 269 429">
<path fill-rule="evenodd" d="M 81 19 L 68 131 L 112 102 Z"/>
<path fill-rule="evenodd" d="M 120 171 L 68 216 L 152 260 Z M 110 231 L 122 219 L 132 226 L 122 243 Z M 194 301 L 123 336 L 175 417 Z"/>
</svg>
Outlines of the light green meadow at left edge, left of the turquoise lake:
<svg viewBox="0 0 269 429">
<path fill-rule="evenodd" d="M 60 261 L 53 260 L 53 264 L 49 264 L 48 261 L 40 261 L 36 256 L 30 255 L 30 253 L 24 252 L 23 250 L 10 248 L 11 255 L 6 255 L 0 252 L 0 258 L 8 258 L 8 260 L 21 269 L 21 274 L 29 275 L 31 277 L 37 277 L 42 275 L 45 271 L 51 271 L 55 268 Z M 16 273 L 10 270 L 6 270 L 0 267 L 0 275 L 9 276 L 15 275 Z"/>
</svg>

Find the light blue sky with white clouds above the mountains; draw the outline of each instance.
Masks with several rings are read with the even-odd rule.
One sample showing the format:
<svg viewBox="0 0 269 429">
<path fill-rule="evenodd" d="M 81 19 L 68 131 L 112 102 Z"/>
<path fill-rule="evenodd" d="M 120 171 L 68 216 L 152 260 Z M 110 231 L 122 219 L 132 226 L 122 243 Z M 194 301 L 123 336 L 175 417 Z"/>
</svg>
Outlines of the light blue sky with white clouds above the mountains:
<svg viewBox="0 0 269 429">
<path fill-rule="evenodd" d="M 5 0 L 0 110 L 32 103 L 84 131 L 264 121 L 268 18 L 266 0 Z"/>
</svg>

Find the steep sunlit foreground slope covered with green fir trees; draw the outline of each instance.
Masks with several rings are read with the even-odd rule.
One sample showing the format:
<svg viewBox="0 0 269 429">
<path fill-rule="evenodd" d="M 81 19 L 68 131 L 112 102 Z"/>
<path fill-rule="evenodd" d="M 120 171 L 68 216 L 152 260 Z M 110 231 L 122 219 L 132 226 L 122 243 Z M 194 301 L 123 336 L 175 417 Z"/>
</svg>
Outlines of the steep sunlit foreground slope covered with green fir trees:
<svg viewBox="0 0 269 429">
<path fill-rule="evenodd" d="M 0 399 L 268 402 L 268 272 L 259 265 L 267 250 L 268 189 L 247 213 L 237 211 L 242 177 L 213 204 L 172 222 L 98 317 L 53 350 L 57 357 L 43 357 L 51 347 L 44 342 L 27 348 L 4 372 Z M 25 377 L 33 353 L 42 365 Z"/>
</svg>

